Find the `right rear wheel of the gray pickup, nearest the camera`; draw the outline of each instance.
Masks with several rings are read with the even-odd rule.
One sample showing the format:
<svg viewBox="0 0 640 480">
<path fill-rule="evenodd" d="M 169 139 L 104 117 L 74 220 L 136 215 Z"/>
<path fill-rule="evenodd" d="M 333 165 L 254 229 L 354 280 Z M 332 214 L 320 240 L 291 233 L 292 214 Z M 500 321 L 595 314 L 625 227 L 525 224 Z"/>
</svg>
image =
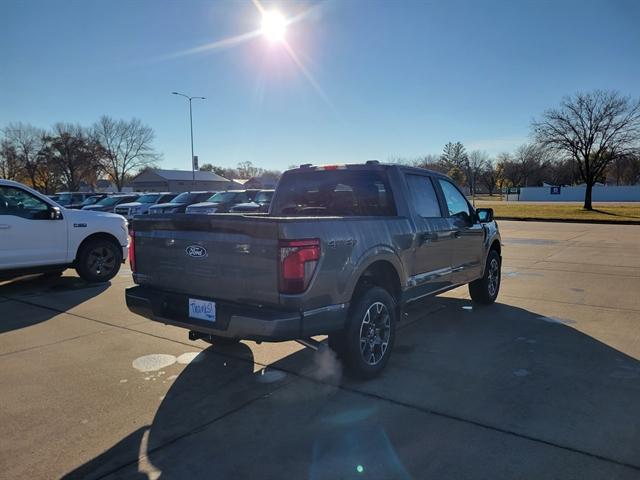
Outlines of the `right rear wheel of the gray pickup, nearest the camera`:
<svg viewBox="0 0 640 480">
<path fill-rule="evenodd" d="M 354 298 L 346 329 L 329 336 L 329 346 L 356 378 L 384 370 L 396 338 L 396 302 L 385 289 L 371 287 Z"/>
</svg>

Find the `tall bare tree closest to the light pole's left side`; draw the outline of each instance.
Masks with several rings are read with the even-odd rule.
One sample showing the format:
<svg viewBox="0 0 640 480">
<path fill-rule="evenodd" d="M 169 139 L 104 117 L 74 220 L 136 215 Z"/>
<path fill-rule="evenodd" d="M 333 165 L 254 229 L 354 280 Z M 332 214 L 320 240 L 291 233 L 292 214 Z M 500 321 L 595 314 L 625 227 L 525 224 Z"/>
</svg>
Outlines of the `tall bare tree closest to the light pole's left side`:
<svg viewBox="0 0 640 480">
<path fill-rule="evenodd" d="M 102 116 L 93 126 L 93 135 L 102 146 L 102 170 L 118 191 L 134 171 L 158 160 L 151 145 L 153 129 L 136 118 L 126 121 Z"/>
</svg>

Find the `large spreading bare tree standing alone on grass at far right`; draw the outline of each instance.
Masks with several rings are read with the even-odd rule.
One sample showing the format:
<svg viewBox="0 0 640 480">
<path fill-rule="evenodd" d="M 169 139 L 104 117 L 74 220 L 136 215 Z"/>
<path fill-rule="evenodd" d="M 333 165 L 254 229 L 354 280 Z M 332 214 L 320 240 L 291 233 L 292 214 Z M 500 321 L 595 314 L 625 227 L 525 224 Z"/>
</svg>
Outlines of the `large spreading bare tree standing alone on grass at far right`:
<svg viewBox="0 0 640 480">
<path fill-rule="evenodd" d="M 532 123 L 540 145 L 570 155 L 586 184 L 584 208 L 592 210 L 593 185 L 617 157 L 640 139 L 640 99 L 596 90 L 566 97 Z"/>
</svg>

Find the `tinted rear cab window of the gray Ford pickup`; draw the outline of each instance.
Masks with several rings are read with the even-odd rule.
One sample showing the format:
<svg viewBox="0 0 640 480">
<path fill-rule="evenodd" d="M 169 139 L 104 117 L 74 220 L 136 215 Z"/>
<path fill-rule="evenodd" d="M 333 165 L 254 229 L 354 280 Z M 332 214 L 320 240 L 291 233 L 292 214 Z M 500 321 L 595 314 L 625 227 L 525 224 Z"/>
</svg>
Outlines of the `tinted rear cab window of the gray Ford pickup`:
<svg viewBox="0 0 640 480">
<path fill-rule="evenodd" d="M 273 216 L 395 216 L 384 170 L 293 171 L 283 175 Z"/>
</svg>

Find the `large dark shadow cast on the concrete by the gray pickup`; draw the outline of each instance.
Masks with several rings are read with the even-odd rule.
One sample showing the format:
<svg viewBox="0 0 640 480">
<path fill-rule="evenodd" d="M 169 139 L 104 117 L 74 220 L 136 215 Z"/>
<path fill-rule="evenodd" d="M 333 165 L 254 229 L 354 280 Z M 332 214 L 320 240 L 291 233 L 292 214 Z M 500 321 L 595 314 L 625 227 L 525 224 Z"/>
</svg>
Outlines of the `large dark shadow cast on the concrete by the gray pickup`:
<svg viewBox="0 0 640 480">
<path fill-rule="evenodd" d="M 151 425 L 67 478 L 640 475 L 640 362 L 572 319 L 431 302 L 441 308 L 403 326 L 369 382 L 326 352 L 254 372 L 249 346 L 212 346 Z"/>
</svg>

